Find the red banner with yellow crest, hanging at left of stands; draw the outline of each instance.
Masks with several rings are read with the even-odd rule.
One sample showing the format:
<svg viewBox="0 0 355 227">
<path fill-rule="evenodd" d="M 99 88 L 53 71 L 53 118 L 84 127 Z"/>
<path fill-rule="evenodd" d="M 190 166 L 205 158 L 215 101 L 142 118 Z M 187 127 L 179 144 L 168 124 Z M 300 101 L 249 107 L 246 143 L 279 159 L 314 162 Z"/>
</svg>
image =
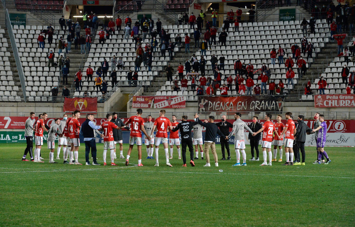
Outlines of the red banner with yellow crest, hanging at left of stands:
<svg viewBox="0 0 355 227">
<path fill-rule="evenodd" d="M 80 110 L 83 113 L 97 112 L 97 98 L 65 98 L 63 111 L 66 113 Z"/>
</svg>

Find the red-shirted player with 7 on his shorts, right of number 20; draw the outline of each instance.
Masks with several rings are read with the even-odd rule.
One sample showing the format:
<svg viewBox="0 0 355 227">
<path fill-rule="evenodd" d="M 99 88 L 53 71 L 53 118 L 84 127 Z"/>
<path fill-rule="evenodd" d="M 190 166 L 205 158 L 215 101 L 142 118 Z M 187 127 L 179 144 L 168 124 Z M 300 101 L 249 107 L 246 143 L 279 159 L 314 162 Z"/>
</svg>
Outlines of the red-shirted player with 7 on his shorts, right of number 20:
<svg viewBox="0 0 355 227">
<path fill-rule="evenodd" d="M 285 118 L 287 120 L 285 128 L 282 131 L 282 136 L 285 133 L 285 154 L 286 162 L 282 164 L 283 166 L 293 166 L 293 141 L 295 139 L 294 134 L 296 134 L 295 122 L 292 120 L 292 113 L 286 112 Z"/>
</svg>

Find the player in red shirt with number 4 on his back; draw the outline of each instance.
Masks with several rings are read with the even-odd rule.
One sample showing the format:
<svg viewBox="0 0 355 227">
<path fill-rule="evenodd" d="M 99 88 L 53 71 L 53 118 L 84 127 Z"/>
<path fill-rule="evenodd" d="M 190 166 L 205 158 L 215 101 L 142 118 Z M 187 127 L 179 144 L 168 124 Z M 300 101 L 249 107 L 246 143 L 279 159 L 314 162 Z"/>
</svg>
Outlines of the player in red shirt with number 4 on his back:
<svg viewBox="0 0 355 227">
<path fill-rule="evenodd" d="M 159 151 L 159 144 L 162 143 L 164 146 L 164 151 L 165 151 L 165 159 L 166 159 L 166 165 L 167 166 L 172 166 L 169 163 L 169 149 L 168 149 L 168 128 L 170 130 L 173 129 L 171 126 L 171 122 L 168 118 L 164 117 L 165 115 L 165 110 L 160 110 L 159 111 L 159 117 L 155 119 L 154 121 L 154 126 L 151 132 L 151 136 L 153 136 L 153 132 L 155 127 L 157 128 L 157 133 L 155 133 L 155 165 L 154 166 L 159 166 L 159 159 L 158 159 L 158 151 Z"/>
</svg>

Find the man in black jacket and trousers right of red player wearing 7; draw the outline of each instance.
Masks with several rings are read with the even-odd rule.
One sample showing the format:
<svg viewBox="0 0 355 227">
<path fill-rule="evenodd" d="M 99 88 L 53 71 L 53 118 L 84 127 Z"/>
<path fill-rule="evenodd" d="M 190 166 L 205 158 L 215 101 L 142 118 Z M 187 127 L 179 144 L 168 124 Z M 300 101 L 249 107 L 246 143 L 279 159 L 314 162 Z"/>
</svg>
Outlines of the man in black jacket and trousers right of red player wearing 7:
<svg viewBox="0 0 355 227">
<path fill-rule="evenodd" d="M 305 165 L 306 159 L 306 152 L 305 152 L 305 142 L 306 142 L 306 132 L 309 127 L 303 121 L 303 115 L 299 115 L 297 118 L 296 124 L 296 134 L 295 134 L 295 141 L 296 141 L 296 150 L 295 151 L 295 162 L 294 165 Z M 302 154 L 302 162 L 300 162 L 300 149 Z"/>
</svg>

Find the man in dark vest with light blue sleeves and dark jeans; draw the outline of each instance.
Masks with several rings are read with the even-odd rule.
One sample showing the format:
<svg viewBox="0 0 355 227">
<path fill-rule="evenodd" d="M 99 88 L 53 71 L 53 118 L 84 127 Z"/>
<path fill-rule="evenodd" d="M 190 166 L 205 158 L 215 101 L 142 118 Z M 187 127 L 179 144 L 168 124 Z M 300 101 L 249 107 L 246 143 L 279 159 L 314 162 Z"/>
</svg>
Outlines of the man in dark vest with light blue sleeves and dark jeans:
<svg viewBox="0 0 355 227">
<path fill-rule="evenodd" d="M 92 114 L 87 114 L 86 115 L 86 120 L 82 123 L 81 128 L 80 128 L 80 134 L 84 136 L 84 142 L 85 142 L 85 165 L 91 165 L 89 161 L 89 153 L 90 153 L 90 148 L 91 148 L 91 156 L 93 158 L 93 165 L 100 165 L 96 161 L 96 139 L 95 139 L 95 131 L 97 129 L 100 129 L 101 126 L 96 126 L 93 122 L 94 120 L 94 115 Z M 95 131 L 94 131 L 95 130 Z M 101 134 L 99 131 L 97 131 L 101 137 L 103 137 L 103 134 Z"/>
</svg>

